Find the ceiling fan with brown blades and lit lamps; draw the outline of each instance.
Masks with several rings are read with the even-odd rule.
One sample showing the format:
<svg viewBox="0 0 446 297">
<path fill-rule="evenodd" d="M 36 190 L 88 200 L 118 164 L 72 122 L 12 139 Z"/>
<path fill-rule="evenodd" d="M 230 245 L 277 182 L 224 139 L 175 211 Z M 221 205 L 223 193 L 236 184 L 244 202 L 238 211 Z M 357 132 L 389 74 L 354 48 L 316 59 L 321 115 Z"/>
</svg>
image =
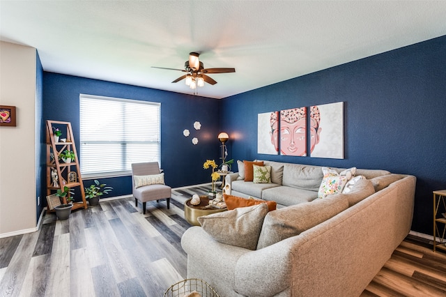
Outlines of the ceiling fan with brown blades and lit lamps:
<svg viewBox="0 0 446 297">
<path fill-rule="evenodd" d="M 182 71 L 183 73 L 187 73 L 183 76 L 178 77 L 175 79 L 174 82 L 179 82 L 180 80 L 186 79 L 186 85 L 190 86 L 190 89 L 196 89 L 197 86 L 204 86 L 204 82 L 207 82 L 208 84 L 217 84 L 217 82 L 212 78 L 209 77 L 208 73 L 235 73 L 236 68 L 207 68 L 205 69 L 203 66 L 203 62 L 199 61 L 198 57 L 200 54 L 197 52 L 191 52 L 189 54 L 189 60 L 185 61 L 184 63 L 184 70 L 183 69 L 175 69 L 175 68 L 164 68 L 164 67 L 155 67 L 152 66 L 152 68 L 159 68 L 159 69 L 167 69 L 167 70 L 178 70 Z"/>
</svg>

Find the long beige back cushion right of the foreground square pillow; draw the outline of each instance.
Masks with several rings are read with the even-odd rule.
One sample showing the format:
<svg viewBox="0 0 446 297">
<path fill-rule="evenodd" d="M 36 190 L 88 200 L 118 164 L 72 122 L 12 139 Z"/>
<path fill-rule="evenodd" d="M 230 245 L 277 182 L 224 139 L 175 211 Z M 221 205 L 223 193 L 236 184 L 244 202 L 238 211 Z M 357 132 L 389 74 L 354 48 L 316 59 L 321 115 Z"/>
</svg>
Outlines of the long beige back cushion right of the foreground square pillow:
<svg viewBox="0 0 446 297">
<path fill-rule="evenodd" d="M 263 221 L 257 250 L 296 236 L 348 208 L 348 201 L 336 196 L 271 211 Z"/>
</svg>

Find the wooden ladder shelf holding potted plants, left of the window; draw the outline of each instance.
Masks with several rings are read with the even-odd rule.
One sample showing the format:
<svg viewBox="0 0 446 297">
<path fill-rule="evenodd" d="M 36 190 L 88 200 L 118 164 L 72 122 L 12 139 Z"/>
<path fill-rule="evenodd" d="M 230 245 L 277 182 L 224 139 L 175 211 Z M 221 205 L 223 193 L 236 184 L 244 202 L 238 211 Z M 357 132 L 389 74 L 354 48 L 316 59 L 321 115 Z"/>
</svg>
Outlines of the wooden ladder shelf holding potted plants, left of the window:
<svg viewBox="0 0 446 297">
<path fill-rule="evenodd" d="M 54 130 L 56 129 L 62 132 L 61 138 L 57 142 L 54 137 Z M 66 132 L 64 133 L 64 131 Z M 66 139 L 66 142 L 61 142 L 63 138 Z M 65 186 L 68 188 L 79 187 L 82 201 L 74 202 L 72 210 L 87 208 L 84 183 L 82 183 L 79 158 L 77 158 L 74 139 L 70 122 L 47 121 L 47 195 L 53 195 L 58 189 L 63 190 Z M 75 160 L 71 160 L 70 163 L 63 162 L 59 159 L 59 155 L 66 150 L 75 153 Z M 52 176 L 54 171 L 57 173 L 57 178 Z M 54 182 L 55 179 L 56 182 Z M 75 192 L 75 199 L 79 197 L 77 193 Z M 66 202 L 64 198 L 62 203 L 66 204 Z M 48 208 L 48 211 L 51 212 L 54 210 Z"/>
</svg>

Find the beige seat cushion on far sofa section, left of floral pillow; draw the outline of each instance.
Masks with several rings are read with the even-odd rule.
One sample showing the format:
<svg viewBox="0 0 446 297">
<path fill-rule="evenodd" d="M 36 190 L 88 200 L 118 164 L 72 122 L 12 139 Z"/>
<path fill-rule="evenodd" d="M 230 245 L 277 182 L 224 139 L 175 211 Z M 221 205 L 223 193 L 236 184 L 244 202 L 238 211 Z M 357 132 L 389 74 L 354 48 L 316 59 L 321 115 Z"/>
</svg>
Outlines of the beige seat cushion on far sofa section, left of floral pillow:
<svg viewBox="0 0 446 297">
<path fill-rule="evenodd" d="M 277 204 L 290 206 L 313 201 L 318 197 L 318 192 L 286 187 L 282 185 L 277 188 L 265 189 L 262 192 L 263 200 L 274 200 Z"/>
</svg>

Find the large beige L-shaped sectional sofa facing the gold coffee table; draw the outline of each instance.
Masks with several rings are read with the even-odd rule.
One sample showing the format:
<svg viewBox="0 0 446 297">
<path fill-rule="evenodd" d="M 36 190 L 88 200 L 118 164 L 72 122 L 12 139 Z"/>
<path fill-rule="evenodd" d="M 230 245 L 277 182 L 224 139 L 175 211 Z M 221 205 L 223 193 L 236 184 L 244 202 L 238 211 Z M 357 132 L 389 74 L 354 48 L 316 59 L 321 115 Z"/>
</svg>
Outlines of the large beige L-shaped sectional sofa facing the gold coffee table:
<svg viewBox="0 0 446 297">
<path fill-rule="evenodd" d="M 181 241 L 187 277 L 206 280 L 225 297 L 360 296 L 410 231 L 415 176 L 358 169 L 357 175 L 367 177 L 360 190 L 316 199 L 317 182 L 309 176 L 320 184 L 321 167 L 273 163 L 275 182 L 283 165 L 282 184 L 259 191 L 258 185 L 241 184 L 249 182 L 236 174 L 226 180 L 233 195 L 275 199 L 284 206 L 262 218 L 256 250 L 226 244 L 224 234 L 217 241 L 204 225 L 191 227 Z M 225 232 L 226 224 L 222 227 Z"/>
</svg>

